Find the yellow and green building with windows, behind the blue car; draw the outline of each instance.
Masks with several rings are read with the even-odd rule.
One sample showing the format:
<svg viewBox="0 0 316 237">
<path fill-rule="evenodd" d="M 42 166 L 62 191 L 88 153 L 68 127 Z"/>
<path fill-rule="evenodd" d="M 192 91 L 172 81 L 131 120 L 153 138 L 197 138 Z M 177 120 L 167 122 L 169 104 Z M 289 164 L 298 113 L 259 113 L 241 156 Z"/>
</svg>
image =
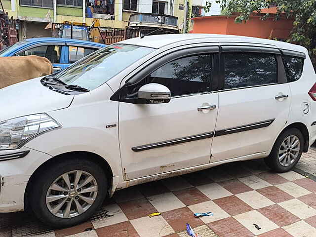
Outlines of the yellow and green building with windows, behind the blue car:
<svg viewBox="0 0 316 237">
<path fill-rule="evenodd" d="M 19 40 L 57 37 L 64 21 L 91 25 L 99 19 L 102 28 L 125 29 L 131 14 L 157 13 L 178 17 L 180 32 L 186 32 L 193 0 L 2 0 L 9 17 L 18 20 Z M 54 24 L 56 23 L 56 24 Z"/>
</svg>

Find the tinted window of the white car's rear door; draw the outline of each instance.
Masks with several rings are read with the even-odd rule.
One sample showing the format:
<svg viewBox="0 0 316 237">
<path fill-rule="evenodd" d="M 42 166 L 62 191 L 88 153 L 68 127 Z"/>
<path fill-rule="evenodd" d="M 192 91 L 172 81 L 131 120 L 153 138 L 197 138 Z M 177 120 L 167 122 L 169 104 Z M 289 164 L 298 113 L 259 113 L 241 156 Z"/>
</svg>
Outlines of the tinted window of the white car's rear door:
<svg viewBox="0 0 316 237">
<path fill-rule="evenodd" d="M 225 53 L 225 89 L 277 82 L 276 57 L 263 53 Z"/>
</svg>

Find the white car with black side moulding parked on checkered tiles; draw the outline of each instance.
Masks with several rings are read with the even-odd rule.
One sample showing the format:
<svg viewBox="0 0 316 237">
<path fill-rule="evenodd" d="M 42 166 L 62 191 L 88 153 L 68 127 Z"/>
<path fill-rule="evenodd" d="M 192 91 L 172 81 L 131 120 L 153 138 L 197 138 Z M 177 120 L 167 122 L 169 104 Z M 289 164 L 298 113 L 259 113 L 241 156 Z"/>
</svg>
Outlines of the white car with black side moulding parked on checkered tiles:
<svg viewBox="0 0 316 237">
<path fill-rule="evenodd" d="M 129 186 L 257 158 L 288 171 L 316 140 L 315 82 L 304 47 L 179 34 L 3 88 L 0 212 L 60 228 Z"/>
</svg>

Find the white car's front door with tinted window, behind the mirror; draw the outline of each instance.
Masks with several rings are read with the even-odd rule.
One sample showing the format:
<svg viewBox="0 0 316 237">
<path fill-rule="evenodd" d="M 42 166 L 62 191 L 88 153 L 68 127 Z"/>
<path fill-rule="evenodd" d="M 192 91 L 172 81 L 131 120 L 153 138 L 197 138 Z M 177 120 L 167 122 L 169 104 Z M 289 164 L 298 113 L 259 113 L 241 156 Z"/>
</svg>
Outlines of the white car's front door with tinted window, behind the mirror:
<svg viewBox="0 0 316 237">
<path fill-rule="evenodd" d="M 135 93 L 147 83 L 163 84 L 171 91 L 169 103 L 119 103 L 125 180 L 209 163 L 218 109 L 218 94 L 211 88 L 217 53 L 209 48 L 183 50 L 182 57 L 177 52 L 168 63 L 158 60 L 156 69 L 130 88 Z"/>
</svg>

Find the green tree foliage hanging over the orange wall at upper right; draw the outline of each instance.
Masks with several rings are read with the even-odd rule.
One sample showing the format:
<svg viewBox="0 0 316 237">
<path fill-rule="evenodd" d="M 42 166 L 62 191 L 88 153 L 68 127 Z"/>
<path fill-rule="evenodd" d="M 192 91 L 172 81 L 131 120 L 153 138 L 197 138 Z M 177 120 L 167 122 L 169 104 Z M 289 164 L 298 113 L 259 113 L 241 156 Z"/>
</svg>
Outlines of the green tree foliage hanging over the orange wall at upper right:
<svg viewBox="0 0 316 237">
<path fill-rule="evenodd" d="M 221 4 L 222 13 L 231 16 L 233 12 L 240 12 L 235 22 L 247 22 L 252 12 L 261 13 L 263 8 L 269 8 L 273 3 L 277 6 L 276 20 L 283 14 L 293 18 L 293 29 L 288 42 L 300 44 L 309 50 L 316 67 L 316 0 L 217 0 Z M 206 10 L 210 10 L 211 3 L 206 3 Z M 269 14 L 264 14 L 265 20 Z"/>
</svg>

